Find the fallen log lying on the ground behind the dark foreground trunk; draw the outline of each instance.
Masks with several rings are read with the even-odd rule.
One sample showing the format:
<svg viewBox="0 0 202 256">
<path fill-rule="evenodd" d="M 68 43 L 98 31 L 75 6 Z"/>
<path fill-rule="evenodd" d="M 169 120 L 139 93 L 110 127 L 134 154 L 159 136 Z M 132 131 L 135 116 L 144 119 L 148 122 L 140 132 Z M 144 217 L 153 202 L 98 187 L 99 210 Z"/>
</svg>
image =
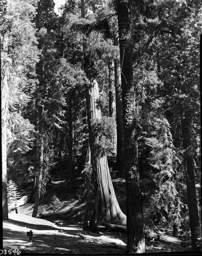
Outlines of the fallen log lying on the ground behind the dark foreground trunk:
<svg viewBox="0 0 202 256">
<path fill-rule="evenodd" d="M 108 228 L 110 231 L 127 233 L 126 226 L 103 223 L 103 222 L 99 222 L 99 224 L 101 226 Z M 167 234 L 164 234 L 161 231 L 153 232 L 150 230 L 145 230 L 145 237 L 148 239 L 153 239 L 153 240 L 157 240 L 157 241 L 159 240 L 159 241 L 166 242 L 166 243 L 175 243 L 175 244 L 182 243 L 182 240 L 168 236 Z"/>
</svg>

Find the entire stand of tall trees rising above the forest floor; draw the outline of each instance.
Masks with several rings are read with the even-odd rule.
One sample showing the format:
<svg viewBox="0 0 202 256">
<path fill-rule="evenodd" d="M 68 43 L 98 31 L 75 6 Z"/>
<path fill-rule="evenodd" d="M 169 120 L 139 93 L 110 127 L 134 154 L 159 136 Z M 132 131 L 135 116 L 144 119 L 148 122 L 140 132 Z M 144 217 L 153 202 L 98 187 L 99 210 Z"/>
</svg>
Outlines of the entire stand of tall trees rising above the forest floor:
<svg viewBox="0 0 202 256">
<path fill-rule="evenodd" d="M 69 0 L 58 15 L 52 0 L 1 1 L 4 219 L 8 180 L 23 190 L 33 179 L 36 217 L 59 169 L 70 193 L 81 186 L 83 228 L 126 225 L 114 157 L 126 178 L 128 252 L 144 252 L 144 201 L 154 223 L 190 233 L 198 249 L 200 4 Z"/>
</svg>

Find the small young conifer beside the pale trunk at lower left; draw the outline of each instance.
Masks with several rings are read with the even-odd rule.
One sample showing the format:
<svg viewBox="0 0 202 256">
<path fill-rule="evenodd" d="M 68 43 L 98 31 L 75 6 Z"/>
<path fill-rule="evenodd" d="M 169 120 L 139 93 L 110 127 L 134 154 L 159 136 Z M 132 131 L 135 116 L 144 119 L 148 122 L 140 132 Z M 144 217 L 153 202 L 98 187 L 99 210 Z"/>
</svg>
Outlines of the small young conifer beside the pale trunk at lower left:
<svg viewBox="0 0 202 256">
<path fill-rule="evenodd" d="M 12 211 L 17 208 L 17 200 L 20 198 L 18 187 L 11 179 L 8 181 L 8 210 Z"/>
</svg>

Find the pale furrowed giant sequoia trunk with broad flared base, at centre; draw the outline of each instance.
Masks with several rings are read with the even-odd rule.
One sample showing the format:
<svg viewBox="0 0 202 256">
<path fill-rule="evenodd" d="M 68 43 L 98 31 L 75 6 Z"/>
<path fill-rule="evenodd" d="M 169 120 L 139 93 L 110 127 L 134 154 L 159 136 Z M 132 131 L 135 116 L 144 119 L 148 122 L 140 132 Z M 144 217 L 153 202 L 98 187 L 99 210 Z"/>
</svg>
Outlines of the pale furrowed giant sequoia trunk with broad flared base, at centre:
<svg viewBox="0 0 202 256">
<path fill-rule="evenodd" d="M 85 17 L 84 0 L 81 0 L 81 13 Z M 101 110 L 96 105 L 99 99 L 99 88 L 94 70 L 94 60 L 87 56 L 86 41 L 83 42 L 84 67 L 89 84 L 86 84 L 87 122 L 89 131 L 89 144 L 95 188 L 95 211 L 91 221 L 91 227 L 95 228 L 97 221 L 111 222 L 124 225 L 126 216 L 121 211 L 111 177 L 109 173 L 107 156 L 103 148 L 99 146 L 99 137 L 93 132 L 96 119 L 101 119 Z"/>
</svg>

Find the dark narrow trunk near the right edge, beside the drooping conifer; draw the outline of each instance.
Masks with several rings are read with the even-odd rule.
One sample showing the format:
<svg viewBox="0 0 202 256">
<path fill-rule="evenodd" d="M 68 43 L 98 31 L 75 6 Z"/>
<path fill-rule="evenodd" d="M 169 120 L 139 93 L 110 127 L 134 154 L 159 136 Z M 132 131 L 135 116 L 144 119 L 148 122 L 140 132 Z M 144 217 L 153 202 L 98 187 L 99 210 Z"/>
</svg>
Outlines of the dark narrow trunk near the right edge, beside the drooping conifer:
<svg viewBox="0 0 202 256">
<path fill-rule="evenodd" d="M 191 120 L 188 117 L 182 121 L 182 135 L 183 135 L 183 148 L 184 163 L 186 171 L 186 185 L 187 185 L 187 200 L 189 208 L 189 221 L 191 229 L 191 246 L 193 250 L 199 249 L 198 238 L 200 238 L 200 225 L 198 215 L 198 205 L 195 187 L 195 172 L 194 172 L 194 156 L 192 152 L 192 138 L 191 132 L 193 131 Z"/>
</svg>

